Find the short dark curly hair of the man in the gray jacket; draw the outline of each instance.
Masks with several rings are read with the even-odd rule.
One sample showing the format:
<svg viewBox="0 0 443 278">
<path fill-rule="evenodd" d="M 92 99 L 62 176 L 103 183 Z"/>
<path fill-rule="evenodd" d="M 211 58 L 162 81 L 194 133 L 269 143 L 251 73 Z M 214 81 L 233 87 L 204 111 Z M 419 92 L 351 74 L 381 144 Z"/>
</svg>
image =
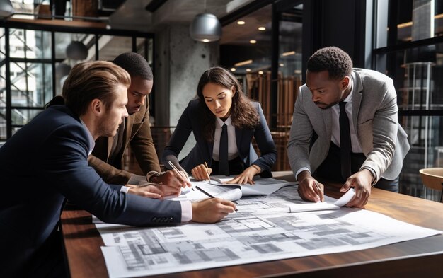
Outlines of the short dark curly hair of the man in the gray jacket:
<svg viewBox="0 0 443 278">
<path fill-rule="evenodd" d="M 308 60 L 308 71 L 328 71 L 329 79 L 343 79 L 352 72 L 351 57 L 338 47 L 317 50 Z"/>
</svg>

